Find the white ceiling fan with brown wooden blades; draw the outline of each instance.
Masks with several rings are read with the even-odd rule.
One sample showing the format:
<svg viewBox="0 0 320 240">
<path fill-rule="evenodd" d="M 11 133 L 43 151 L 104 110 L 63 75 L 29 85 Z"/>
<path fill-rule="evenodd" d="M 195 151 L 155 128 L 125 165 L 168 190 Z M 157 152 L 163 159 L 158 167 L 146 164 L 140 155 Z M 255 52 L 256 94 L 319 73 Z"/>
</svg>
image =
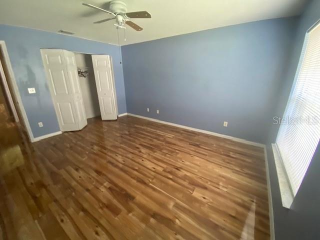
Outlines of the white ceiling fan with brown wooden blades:
<svg viewBox="0 0 320 240">
<path fill-rule="evenodd" d="M 148 13 L 147 11 L 127 12 L 126 4 L 123 1 L 119 1 L 119 0 L 110 1 L 108 10 L 105 10 L 103 8 L 100 8 L 88 3 L 82 3 L 82 4 L 112 15 L 112 17 L 110 18 L 95 21 L 93 23 L 102 23 L 102 22 L 115 19 L 116 23 L 114 25 L 116 27 L 125 28 L 124 24 L 127 24 L 128 26 L 132 27 L 134 30 L 141 31 L 143 28 L 135 24 L 133 21 L 131 21 L 130 18 L 151 18 L 150 13 Z"/>
</svg>

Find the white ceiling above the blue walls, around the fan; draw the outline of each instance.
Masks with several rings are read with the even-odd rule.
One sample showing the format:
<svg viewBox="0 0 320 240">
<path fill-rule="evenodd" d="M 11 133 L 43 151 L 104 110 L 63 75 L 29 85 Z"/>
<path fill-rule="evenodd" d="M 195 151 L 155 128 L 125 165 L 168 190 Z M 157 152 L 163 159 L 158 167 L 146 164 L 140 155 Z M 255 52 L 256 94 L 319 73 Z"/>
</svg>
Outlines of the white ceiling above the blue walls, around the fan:
<svg viewBox="0 0 320 240">
<path fill-rule="evenodd" d="M 123 0 L 128 11 L 147 10 L 151 19 L 132 19 L 144 29 L 127 27 L 126 42 L 147 41 L 220 26 L 299 14 L 307 0 Z M 117 44 L 113 21 L 93 24 L 107 13 L 83 6 L 108 7 L 109 0 L 1 0 L 0 24 L 25 26 Z"/>
</svg>

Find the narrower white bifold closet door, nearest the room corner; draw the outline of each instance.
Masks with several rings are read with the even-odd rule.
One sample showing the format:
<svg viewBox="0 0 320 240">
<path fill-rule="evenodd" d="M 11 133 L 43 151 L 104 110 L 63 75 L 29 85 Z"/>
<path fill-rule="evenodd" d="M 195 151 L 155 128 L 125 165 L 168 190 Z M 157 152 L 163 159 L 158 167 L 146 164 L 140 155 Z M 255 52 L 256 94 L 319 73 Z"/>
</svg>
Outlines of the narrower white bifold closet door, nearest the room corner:
<svg viewBox="0 0 320 240">
<path fill-rule="evenodd" d="M 101 119 L 115 120 L 117 103 L 111 57 L 109 55 L 92 55 L 92 63 Z"/>
</svg>

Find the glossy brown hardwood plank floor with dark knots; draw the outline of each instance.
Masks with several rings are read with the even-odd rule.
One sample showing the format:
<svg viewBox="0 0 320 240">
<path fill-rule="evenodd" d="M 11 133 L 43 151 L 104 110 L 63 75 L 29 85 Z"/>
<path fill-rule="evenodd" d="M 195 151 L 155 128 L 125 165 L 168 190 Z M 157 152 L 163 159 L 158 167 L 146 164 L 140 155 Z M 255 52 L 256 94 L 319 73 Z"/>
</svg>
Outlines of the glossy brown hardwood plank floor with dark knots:
<svg viewBox="0 0 320 240">
<path fill-rule="evenodd" d="M 262 148 L 132 116 L 0 130 L 0 239 L 269 239 Z"/>
</svg>

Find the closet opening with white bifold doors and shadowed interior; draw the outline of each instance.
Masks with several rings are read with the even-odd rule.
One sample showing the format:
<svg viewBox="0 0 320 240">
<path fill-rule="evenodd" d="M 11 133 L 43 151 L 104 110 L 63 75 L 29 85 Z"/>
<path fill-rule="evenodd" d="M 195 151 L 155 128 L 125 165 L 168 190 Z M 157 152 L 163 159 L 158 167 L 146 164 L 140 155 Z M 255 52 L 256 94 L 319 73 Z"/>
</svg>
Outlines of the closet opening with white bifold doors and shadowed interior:
<svg viewBox="0 0 320 240">
<path fill-rule="evenodd" d="M 80 130 L 87 118 L 117 118 L 112 60 L 64 49 L 41 49 L 61 131 Z"/>
</svg>

